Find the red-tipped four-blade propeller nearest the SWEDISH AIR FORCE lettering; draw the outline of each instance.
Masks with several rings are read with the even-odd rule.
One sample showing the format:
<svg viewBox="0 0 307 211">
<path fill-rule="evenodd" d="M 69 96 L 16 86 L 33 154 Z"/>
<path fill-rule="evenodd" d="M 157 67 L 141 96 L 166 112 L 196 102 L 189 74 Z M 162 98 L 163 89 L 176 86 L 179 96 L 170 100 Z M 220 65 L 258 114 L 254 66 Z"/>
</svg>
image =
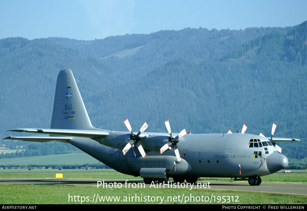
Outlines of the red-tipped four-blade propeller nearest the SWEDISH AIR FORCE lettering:
<svg viewBox="0 0 307 211">
<path fill-rule="evenodd" d="M 178 160 L 178 162 L 180 162 L 181 158 L 180 158 L 179 150 L 177 148 L 177 143 L 179 142 L 178 139 L 181 138 L 182 136 L 184 136 L 187 133 L 187 131 L 185 129 L 183 129 L 176 137 L 173 137 L 171 127 L 169 125 L 169 120 L 165 121 L 165 126 L 166 126 L 167 131 L 169 132 L 170 138 L 169 138 L 169 141 L 164 146 L 161 147 L 160 153 L 162 154 L 166 150 L 170 150 L 170 149 L 173 148 L 174 151 L 175 151 L 175 155 L 177 157 L 177 160 Z"/>
</svg>

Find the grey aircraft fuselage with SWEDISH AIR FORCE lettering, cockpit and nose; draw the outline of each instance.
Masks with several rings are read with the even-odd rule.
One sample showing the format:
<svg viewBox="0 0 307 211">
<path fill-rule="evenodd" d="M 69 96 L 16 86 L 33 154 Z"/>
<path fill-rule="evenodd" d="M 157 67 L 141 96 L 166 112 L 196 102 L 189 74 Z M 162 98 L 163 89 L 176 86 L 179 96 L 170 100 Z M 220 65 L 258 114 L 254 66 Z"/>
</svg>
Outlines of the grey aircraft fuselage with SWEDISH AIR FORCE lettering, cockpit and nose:
<svg viewBox="0 0 307 211">
<path fill-rule="evenodd" d="M 257 135 L 187 134 L 177 143 L 181 162 L 177 162 L 172 149 L 160 154 L 159 149 L 168 139 L 167 133 L 144 133 L 141 144 L 145 158 L 136 147 L 122 154 L 120 149 L 130 140 L 127 132 L 110 131 L 99 140 L 73 138 L 69 142 L 109 167 L 134 176 L 139 176 L 142 168 L 165 168 L 170 177 L 241 178 L 269 175 L 288 165 L 286 156 L 278 153 L 267 138 Z"/>
</svg>

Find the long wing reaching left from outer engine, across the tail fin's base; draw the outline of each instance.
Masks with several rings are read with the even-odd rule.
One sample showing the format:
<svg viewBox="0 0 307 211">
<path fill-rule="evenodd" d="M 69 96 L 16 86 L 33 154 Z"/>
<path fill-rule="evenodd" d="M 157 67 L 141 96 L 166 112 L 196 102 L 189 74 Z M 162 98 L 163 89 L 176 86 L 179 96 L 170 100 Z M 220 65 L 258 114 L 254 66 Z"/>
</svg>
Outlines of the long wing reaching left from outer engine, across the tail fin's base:
<svg viewBox="0 0 307 211">
<path fill-rule="evenodd" d="M 103 137 L 109 135 L 109 132 L 105 131 L 105 130 L 67 130 L 67 129 L 17 128 L 17 129 L 7 130 L 7 131 L 61 135 L 61 136 L 73 136 L 73 137 L 82 137 L 82 138 L 103 138 Z"/>
</svg>

